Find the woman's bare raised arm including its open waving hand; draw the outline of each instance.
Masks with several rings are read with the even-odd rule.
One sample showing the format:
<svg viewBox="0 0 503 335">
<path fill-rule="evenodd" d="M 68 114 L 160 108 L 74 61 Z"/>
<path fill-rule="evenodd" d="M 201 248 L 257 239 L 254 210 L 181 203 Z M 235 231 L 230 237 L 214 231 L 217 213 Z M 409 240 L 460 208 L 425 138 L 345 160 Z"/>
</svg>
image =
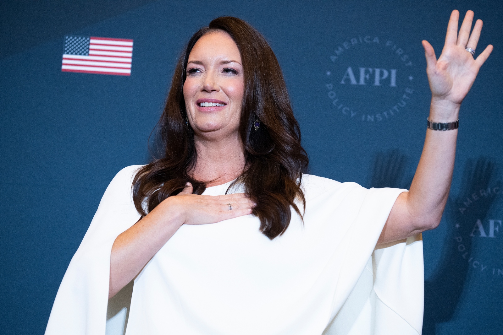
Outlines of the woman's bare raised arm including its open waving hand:
<svg viewBox="0 0 503 335">
<path fill-rule="evenodd" d="M 432 90 L 432 122 L 456 121 L 461 102 L 492 51 L 492 45 L 489 45 L 474 59 L 466 48 L 477 48 L 482 21 L 477 20 L 470 35 L 473 12 L 466 13 L 459 34 L 458 19 L 459 12 L 453 11 L 444 49 L 438 60 L 431 44 L 423 41 L 426 72 Z M 379 244 L 408 238 L 439 225 L 451 187 L 457 134 L 457 130 L 426 130 L 425 146 L 410 190 L 396 199 L 379 237 Z"/>
</svg>

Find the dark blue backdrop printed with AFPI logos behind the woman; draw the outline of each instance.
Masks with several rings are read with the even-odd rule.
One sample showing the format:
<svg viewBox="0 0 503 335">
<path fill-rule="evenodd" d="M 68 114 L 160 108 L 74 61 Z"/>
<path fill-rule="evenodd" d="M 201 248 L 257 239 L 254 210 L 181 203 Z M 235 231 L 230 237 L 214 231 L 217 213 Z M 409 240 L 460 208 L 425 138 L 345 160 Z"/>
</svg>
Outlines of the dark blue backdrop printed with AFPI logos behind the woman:
<svg viewBox="0 0 503 335">
<path fill-rule="evenodd" d="M 149 161 L 147 138 L 179 52 L 212 18 L 240 17 L 271 43 L 310 173 L 366 187 L 407 187 L 429 112 L 421 40 L 440 55 L 450 12 L 458 9 L 484 20 L 477 53 L 489 43 L 494 51 L 461 108 L 442 224 L 423 235 L 424 334 L 501 333 L 499 1 L 46 0 L 1 6 L 0 332 L 44 332 L 105 188 L 121 168 Z M 131 76 L 61 72 L 68 34 L 133 39 Z"/>
</svg>

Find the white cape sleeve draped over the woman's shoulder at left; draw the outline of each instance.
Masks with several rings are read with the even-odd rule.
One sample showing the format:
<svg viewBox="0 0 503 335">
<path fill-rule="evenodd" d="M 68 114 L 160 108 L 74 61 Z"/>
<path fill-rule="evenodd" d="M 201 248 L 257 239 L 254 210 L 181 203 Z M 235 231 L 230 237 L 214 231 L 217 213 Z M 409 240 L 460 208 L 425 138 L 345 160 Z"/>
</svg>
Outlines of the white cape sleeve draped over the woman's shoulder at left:
<svg viewBox="0 0 503 335">
<path fill-rule="evenodd" d="M 117 236 L 140 217 L 131 193 L 139 167 L 122 169 L 107 187 L 59 286 L 46 335 L 105 335 L 110 253 Z"/>
</svg>

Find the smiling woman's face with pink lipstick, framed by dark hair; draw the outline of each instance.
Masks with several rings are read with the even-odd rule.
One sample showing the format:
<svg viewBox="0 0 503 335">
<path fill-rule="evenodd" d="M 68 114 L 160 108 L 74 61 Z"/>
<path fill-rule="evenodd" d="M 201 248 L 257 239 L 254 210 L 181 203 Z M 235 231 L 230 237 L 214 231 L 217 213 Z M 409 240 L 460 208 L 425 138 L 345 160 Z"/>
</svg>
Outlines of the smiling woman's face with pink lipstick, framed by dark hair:
<svg viewBox="0 0 503 335">
<path fill-rule="evenodd" d="M 244 92 L 237 45 L 224 31 L 201 37 L 189 54 L 184 98 L 197 136 L 218 140 L 236 135 Z"/>
</svg>

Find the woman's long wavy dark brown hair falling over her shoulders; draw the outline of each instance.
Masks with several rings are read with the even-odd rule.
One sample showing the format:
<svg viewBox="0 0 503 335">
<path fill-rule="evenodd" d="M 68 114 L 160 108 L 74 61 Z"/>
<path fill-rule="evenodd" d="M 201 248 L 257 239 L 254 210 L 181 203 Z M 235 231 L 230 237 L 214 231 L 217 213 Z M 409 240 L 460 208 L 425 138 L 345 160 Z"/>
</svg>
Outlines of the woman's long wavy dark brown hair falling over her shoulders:
<svg viewBox="0 0 503 335">
<path fill-rule="evenodd" d="M 195 194 L 203 193 L 206 188 L 205 181 L 191 176 L 197 152 L 194 131 L 185 124 L 183 85 L 192 48 L 203 35 L 219 30 L 227 32 L 236 43 L 244 75 L 239 135 L 245 167 L 232 185 L 242 183 L 245 192 L 257 203 L 253 214 L 260 218 L 260 231 L 274 239 L 288 228 L 290 207 L 302 216 L 295 200 L 300 200 L 305 208 L 300 184 L 308 159 L 300 145 L 300 128 L 293 116 L 278 60 L 264 36 L 238 18 L 220 17 L 211 21 L 192 36 L 181 55 L 157 124 L 163 154 L 135 175 L 134 204 L 145 216 L 162 200 L 181 192 L 186 182 L 192 183 Z M 260 120 L 257 131 L 253 127 L 256 119 Z"/>
</svg>

